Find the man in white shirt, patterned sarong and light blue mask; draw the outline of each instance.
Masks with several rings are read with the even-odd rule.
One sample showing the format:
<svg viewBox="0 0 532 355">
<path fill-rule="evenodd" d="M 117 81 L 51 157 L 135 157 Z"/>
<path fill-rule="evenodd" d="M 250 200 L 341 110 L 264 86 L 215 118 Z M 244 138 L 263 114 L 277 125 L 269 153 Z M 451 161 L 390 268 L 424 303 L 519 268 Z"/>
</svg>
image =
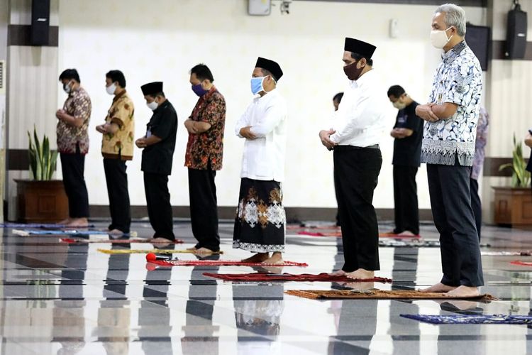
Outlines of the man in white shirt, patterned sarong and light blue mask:
<svg viewBox="0 0 532 355">
<path fill-rule="evenodd" d="M 277 62 L 257 59 L 251 92 L 258 96 L 235 126 L 236 135 L 245 138 L 245 143 L 233 248 L 255 252 L 243 260 L 247 262 L 282 263 L 287 103 L 275 89 L 282 74 Z"/>
</svg>

